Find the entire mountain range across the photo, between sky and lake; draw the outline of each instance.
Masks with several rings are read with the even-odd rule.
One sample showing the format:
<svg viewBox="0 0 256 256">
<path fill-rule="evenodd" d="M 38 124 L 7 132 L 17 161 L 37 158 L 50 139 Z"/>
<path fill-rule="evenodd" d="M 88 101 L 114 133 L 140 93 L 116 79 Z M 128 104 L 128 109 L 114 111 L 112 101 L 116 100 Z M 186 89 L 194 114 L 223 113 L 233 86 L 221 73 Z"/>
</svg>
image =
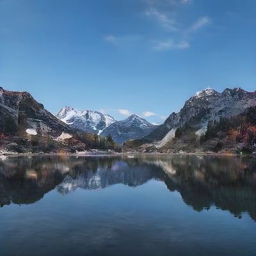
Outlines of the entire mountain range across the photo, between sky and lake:
<svg viewBox="0 0 256 256">
<path fill-rule="evenodd" d="M 0 135 L 1 152 L 113 148 L 113 140 L 126 141 L 123 149 L 136 152 L 253 152 L 256 92 L 242 88 L 197 92 L 179 113 L 156 127 L 138 115 L 116 121 L 97 111 L 70 107 L 54 116 L 28 92 L 0 88 Z"/>
</svg>

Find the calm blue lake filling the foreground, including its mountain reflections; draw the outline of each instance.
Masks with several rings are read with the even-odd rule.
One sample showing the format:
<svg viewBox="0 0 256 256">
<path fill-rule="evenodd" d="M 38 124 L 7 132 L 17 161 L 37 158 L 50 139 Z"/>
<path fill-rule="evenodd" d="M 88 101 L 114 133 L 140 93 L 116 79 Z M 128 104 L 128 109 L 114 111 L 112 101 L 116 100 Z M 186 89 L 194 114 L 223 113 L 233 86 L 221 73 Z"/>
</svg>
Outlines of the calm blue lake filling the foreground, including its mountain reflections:
<svg viewBox="0 0 256 256">
<path fill-rule="evenodd" d="M 12 156 L 1 255 L 256 255 L 256 159 Z"/>
</svg>

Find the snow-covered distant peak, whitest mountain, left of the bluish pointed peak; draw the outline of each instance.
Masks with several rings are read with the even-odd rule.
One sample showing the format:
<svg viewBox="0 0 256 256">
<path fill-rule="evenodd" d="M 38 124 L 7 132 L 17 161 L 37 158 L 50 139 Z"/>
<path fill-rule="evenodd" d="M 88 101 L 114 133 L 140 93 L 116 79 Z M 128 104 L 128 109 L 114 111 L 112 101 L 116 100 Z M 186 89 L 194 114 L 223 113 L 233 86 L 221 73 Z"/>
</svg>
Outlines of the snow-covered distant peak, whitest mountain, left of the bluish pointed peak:
<svg viewBox="0 0 256 256">
<path fill-rule="evenodd" d="M 68 106 L 61 108 L 56 117 L 72 128 L 97 134 L 116 122 L 112 116 L 88 109 L 78 111 Z"/>
</svg>

